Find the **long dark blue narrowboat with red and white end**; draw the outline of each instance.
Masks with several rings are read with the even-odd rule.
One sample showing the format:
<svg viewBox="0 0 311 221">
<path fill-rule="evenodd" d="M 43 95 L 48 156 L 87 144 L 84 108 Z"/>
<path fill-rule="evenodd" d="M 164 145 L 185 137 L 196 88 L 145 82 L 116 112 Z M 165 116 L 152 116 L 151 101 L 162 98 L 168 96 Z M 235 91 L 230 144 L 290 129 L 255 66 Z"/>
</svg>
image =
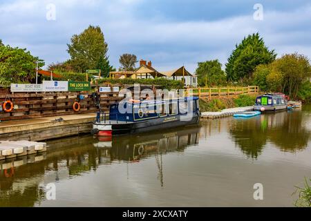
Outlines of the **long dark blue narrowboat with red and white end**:
<svg viewBox="0 0 311 221">
<path fill-rule="evenodd" d="M 198 97 L 144 100 L 122 100 L 111 104 L 109 113 L 97 112 L 92 134 L 111 136 L 142 133 L 177 126 L 198 124 Z"/>
</svg>

